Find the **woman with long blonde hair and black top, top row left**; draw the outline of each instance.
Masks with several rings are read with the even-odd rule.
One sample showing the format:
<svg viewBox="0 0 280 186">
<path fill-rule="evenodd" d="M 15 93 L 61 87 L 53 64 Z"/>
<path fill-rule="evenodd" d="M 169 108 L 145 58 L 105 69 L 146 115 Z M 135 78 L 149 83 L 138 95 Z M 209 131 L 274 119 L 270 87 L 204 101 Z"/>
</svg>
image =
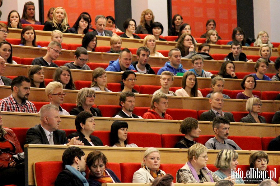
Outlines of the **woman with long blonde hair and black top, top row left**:
<svg viewBox="0 0 280 186">
<path fill-rule="evenodd" d="M 43 30 L 45 31 L 60 30 L 63 33 L 69 33 L 67 13 L 63 7 L 56 7 L 54 9 L 53 20 L 46 22 Z"/>
</svg>

